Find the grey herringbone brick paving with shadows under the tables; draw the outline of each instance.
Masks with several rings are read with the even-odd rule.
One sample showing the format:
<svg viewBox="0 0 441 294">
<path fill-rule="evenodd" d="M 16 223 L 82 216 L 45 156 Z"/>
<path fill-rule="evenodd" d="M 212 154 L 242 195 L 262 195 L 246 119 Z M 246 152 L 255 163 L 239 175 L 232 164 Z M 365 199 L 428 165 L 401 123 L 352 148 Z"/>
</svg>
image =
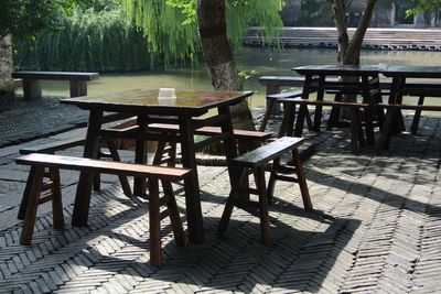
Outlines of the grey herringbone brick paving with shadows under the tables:
<svg viewBox="0 0 441 294">
<path fill-rule="evenodd" d="M 24 115 L 15 119 L 13 126 L 40 126 Z M 419 137 L 394 138 L 390 152 L 380 155 L 375 150 L 353 155 L 345 130 L 309 135 L 316 146 L 304 163 L 314 211 L 303 210 L 295 185 L 277 183 L 267 247 L 257 219 L 240 210 L 234 210 L 226 236 L 216 236 L 229 192 L 227 171 L 202 165 L 206 240 L 178 248 L 164 220 L 161 269 L 148 262 L 148 203 L 125 197 L 111 176 L 93 195 L 89 226 L 77 228 L 69 225 L 77 174 L 63 172 L 66 228 L 54 230 L 50 204 L 42 205 L 32 246 L 20 246 L 15 216 L 28 172 L 13 163 L 18 150 L 84 130 L 4 146 L 0 292 L 441 293 L 440 130 L 439 118 L 424 118 Z M 29 133 L 17 131 L 19 138 Z M 79 155 L 80 148 L 63 154 Z M 183 192 L 176 188 L 186 227 Z"/>
</svg>

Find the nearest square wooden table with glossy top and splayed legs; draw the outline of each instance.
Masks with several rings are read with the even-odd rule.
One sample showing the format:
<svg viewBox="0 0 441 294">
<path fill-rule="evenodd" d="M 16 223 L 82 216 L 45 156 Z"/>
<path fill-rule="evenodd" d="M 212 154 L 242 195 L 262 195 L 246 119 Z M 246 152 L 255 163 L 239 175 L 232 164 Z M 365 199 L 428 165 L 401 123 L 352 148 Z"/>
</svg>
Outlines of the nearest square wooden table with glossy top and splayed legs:
<svg viewBox="0 0 441 294">
<path fill-rule="evenodd" d="M 185 203 L 189 222 L 189 238 L 193 242 L 203 242 L 204 230 L 201 211 L 200 185 L 195 159 L 194 132 L 205 126 L 219 126 L 226 159 L 237 156 L 229 106 L 243 101 L 252 95 L 251 91 L 206 91 L 206 90 L 176 90 L 175 98 L 159 97 L 160 90 L 130 90 L 97 97 L 77 97 L 61 99 L 63 104 L 78 106 L 89 110 L 89 120 L 84 146 L 84 157 L 96 159 L 98 139 L 128 138 L 136 140 L 137 163 L 147 163 L 146 141 L 178 142 L 181 144 L 182 164 L 190 168 L 191 175 L 185 178 Z M 211 109 L 217 109 L 217 115 L 201 118 Z M 106 130 L 103 128 L 103 113 L 122 112 L 137 117 L 136 128 L 130 131 Z M 149 124 L 178 124 L 179 131 L 148 132 Z M 146 192 L 146 182 L 135 178 L 135 195 Z M 93 175 L 82 172 L 75 198 L 72 224 L 87 225 L 90 203 Z"/>
</svg>

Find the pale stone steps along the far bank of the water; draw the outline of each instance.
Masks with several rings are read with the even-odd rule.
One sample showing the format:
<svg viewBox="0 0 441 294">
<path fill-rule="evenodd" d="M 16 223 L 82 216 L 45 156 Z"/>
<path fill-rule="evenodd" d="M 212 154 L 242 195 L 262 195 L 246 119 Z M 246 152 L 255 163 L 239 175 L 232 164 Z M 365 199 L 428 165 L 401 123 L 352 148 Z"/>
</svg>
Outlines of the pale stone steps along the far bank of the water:
<svg viewBox="0 0 441 294">
<path fill-rule="evenodd" d="M 349 37 L 355 29 L 349 28 Z M 259 26 L 248 29 L 245 45 L 261 45 L 263 31 Z M 335 28 L 282 28 L 279 39 L 284 47 L 323 47 L 337 45 Z M 441 29 L 378 29 L 367 30 L 363 48 L 367 50 L 427 50 L 441 51 Z"/>
</svg>

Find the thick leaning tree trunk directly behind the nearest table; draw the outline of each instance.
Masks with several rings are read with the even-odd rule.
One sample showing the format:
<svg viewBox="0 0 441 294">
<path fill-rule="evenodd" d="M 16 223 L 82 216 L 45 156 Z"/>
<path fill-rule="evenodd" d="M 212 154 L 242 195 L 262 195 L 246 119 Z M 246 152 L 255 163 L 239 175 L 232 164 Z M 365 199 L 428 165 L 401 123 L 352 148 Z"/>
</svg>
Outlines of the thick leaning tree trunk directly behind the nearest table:
<svg viewBox="0 0 441 294">
<path fill-rule="evenodd" d="M 227 41 L 225 0 L 197 0 L 197 26 L 204 61 L 216 90 L 241 90 L 241 83 Z M 246 101 L 232 107 L 233 126 L 255 130 Z"/>
</svg>

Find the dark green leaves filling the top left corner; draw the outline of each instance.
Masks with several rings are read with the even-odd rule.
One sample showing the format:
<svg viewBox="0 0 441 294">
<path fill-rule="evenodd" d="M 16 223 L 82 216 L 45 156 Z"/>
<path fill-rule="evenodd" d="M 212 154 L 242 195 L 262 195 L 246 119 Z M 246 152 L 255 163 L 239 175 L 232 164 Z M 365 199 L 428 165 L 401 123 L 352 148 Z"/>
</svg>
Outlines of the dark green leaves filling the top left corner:
<svg viewBox="0 0 441 294">
<path fill-rule="evenodd" d="M 0 39 L 8 34 L 29 36 L 55 26 L 60 18 L 56 3 L 56 0 L 1 0 Z"/>
</svg>

